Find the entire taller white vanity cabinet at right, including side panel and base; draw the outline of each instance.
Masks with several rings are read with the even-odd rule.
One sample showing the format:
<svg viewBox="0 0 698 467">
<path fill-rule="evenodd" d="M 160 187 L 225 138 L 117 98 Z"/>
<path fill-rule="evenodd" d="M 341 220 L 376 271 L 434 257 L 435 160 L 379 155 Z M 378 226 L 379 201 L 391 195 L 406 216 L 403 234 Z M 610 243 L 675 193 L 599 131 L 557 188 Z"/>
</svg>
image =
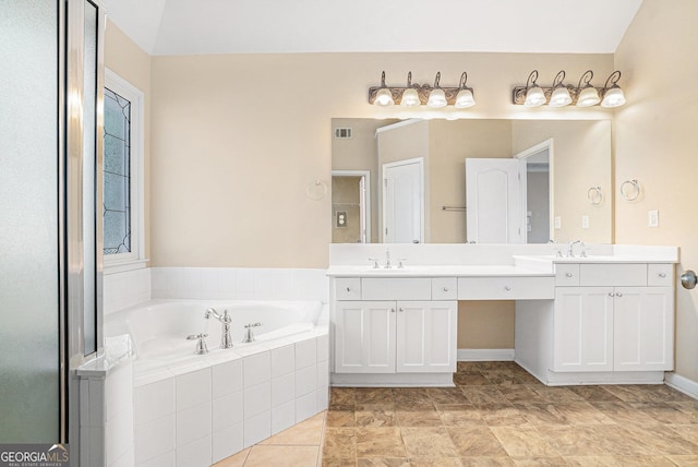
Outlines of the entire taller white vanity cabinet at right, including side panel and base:
<svg viewBox="0 0 698 467">
<path fill-rule="evenodd" d="M 661 382 L 673 284 L 671 263 L 557 263 L 554 301 L 517 303 L 516 360 L 547 384 Z"/>
</svg>

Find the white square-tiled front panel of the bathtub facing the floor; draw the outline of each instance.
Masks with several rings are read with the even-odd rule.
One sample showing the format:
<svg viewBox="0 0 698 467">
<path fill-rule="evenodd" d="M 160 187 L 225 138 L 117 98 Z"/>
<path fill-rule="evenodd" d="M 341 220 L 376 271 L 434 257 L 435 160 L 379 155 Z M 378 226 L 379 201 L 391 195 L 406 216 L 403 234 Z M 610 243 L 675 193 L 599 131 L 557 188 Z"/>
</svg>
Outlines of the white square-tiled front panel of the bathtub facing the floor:
<svg viewBox="0 0 698 467">
<path fill-rule="evenodd" d="M 136 466 L 208 466 L 327 408 L 326 328 L 209 356 L 171 375 L 135 362 Z"/>
</svg>

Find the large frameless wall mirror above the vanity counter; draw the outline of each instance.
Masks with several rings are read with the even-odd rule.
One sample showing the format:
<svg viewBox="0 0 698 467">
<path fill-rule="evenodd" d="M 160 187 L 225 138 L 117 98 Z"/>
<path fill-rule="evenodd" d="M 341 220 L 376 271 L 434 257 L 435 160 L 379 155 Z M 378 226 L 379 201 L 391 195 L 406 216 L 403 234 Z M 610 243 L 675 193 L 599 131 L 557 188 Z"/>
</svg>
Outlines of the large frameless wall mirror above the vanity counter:
<svg viewBox="0 0 698 467">
<path fill-rule="evenodd" d="M 609 120 L 332 128 L 334 243 L 612 241 Z"/>
</svg>

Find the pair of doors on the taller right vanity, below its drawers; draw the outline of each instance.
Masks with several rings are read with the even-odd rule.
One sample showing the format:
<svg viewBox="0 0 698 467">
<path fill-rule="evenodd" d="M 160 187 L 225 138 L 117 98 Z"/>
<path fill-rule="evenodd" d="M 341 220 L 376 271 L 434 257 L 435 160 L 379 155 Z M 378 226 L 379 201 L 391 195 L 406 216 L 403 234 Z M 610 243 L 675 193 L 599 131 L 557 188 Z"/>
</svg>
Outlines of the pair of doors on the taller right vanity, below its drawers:
<svg viewBox="0 0 698 467">
<path fill-rule="evenodd" d="M 557 287 L 555 371 L 673 369 L 671 287 Z"/>
</svg>

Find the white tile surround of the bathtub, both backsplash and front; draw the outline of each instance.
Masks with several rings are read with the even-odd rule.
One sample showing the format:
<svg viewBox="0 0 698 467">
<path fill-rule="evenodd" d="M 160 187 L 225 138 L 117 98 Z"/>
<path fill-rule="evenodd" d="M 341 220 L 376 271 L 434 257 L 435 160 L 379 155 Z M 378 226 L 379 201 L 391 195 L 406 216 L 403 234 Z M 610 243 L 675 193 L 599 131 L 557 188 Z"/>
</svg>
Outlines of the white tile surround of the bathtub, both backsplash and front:
<svg viewBox="0 0 698 467">
<path fill-rule="evenodd" d="M 327 289 L 324 270 L 161 267 L 106 274 L 105 335 L 128 332 L 128 313 L 171 301 L 152 302 L 152 298 L 206 298 L 210 299 L 208 306 L 219 304 L 212 300 L 313 300 L 317 304 L 326 302 Z M 202 323 L 206 307 L 196 312 L 196 320 L 202 313 Z M 88 407 L 82 424 L 88 428 L 85 432 L 97 436 L 85 440 L 91 448 L 84 458 L 105 458 L 101 456 L 107 454 L 108 465 L 133 465 L 135 460 L 135 465 L 146 466 L 208 466 L 324 410 L 329 371 L 327 322 L 325 306 L 310 331 L 264 340 L 256 328 L 258 342 L 236 342 L 232 349 L 221 350 L 213 336 L 219 333 L 220 324 L 210 320 L 210 354 L 206 356 L 192 355 L 190 359 L 186 351 L 184 364 L 128 359 L 101 376 L 88 373 L 96 383 L 84 384 L 89 391 L 81 400 Z M 244 324 L 233 323 L 233 328 Z M 194 342 L 185 345 L 193 351 Z M 111 381 L 122 373 L 129 378 Z M 117 381 L 131 381 L 133 391 L 105 393 L 105 386 Z M 110 405 L 127 408 L 117 421 L 131 420 L 129 427 L 118 423 L 115 432 L 108 424 L 107 430 L 104 424 L 96 426 L 95 414 Z M 133 416 L 129 419 L 122 414 Z M 112 432 L 113 436 L 104 440 L 101 434 Z M 130 435 L 124 438 L 124 433 Z M 125 440 L 127 445 L 110 448 L 110 438 Z"/>
</svg>

